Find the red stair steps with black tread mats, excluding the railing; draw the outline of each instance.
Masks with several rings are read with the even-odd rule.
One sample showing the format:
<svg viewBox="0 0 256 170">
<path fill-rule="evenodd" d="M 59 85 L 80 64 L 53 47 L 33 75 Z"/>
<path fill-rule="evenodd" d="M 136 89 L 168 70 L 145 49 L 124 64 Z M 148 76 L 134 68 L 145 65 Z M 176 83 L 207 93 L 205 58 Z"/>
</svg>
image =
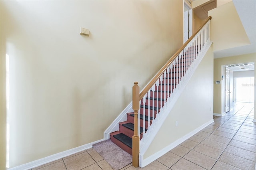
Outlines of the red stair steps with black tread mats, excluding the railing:
<svg viewBox="0 0 256 170">
<path fill-rule="evenodd" d="M 190 67 L 194 59 L 196 58 L 196 55 L 198 52 L 192 51 L 192 48 L 189 48 L 188 53 L 184 54 L 179 61 L 176 63 L 175 66 L 173 66 L 172 72 L 169 73 L 169 75 L 163 76 L 165 77 L 164 80 L 158 80 L 159 86 L 158 89 L 166 89 L 166 90 L 158 90 L 158 91 L 152 91 L 150 90 L 150 96 L 157 96 L 154 97 L 146 97 L 145 103 L 145 113 L 150 113 L 150 116 L 148 117 L 145 115 L 145 130 L 143 129 L 143 112 L 140 111 L 140 139 L 143 136 L 143 132 L 146 133 L 148 123 L 149 125 L 152 124 L 152 121 L 157 117 L 160 106 L 163 106 L 167 98 L 170 96 L 170 94 L 174 91 L 176 88 L 176 85 L 180 82 L 184 74 L 186 73 L 185 66 Z M 180 75 L 180 77 L 176 77 L 176 75 Z M 155 89 L 157 89 L 157 86 L 155 85 Z M 168 90 L 167 90 L 168 89 Z M 170 90 L 172 89 L 172 90 Z M 162 98 L 161 98 L 162 93 Z M 141 99 L 140 103 L 143 103 Z M 154 108 L 153 106 L 154 102 Z M 149 105 L 148 105 L 149 103 Z M 140 105 L 140 108 L 143 109 L 143 105 Z M 141 109 L 141 110 L 142 110 Z M 148 122 L 149 121 L 149 122 Z M 120 148 L 128 152 L 132 155 L 132 136 L 134 134 L 134 112 L 127 113 L 127 121 L 120 122 L 119 123 L 119 130 L 110 133 L 110 139 L 112 142 L 114 142 L 116 145 L 118 145 Z"/>
</svg>

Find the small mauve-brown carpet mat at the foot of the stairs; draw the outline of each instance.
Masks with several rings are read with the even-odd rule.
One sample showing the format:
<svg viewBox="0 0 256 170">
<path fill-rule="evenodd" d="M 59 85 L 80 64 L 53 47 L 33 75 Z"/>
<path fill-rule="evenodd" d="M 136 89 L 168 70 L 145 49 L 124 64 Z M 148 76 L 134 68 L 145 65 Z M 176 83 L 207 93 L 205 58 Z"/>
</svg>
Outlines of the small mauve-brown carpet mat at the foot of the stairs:
<svg viewBox="0 0 256 170">
<path fill-rule="evenodd" d="M 132 162 L 132 155 L 122 150 L 110 139 L 93 144 L 92 147 L 110 164 L 114 170 L 120 170 Z"/>
</svg>

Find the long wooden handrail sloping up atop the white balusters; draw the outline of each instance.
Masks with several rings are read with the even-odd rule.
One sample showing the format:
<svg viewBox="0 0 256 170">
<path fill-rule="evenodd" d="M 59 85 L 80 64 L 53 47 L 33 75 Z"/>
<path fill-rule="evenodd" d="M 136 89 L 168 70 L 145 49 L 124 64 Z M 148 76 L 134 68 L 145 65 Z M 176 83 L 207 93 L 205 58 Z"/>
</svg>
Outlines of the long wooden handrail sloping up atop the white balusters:
<svg viewBox="0 0 256 170">
<path fill-rule="evenodd" d="M 186 47 L 186 45 L 188 45 L 188 43 L 196 36 L 196 34 L 204 27 L 204 25 L 212 19 L 212 16 L 209 16 L 204 23 L 202 24 L 202 26 L 200 26 L 200 28 L 198 28 L 198 30 L 180 47 L 180 49 L 178 49 L 178 51 L 176 51 L 176 53 L 174 53 L 174 55 L 172 55 L 172 57 L 167 61 L 167 63 L 160 69 L 160 71 L 158 71 L 158 73 L 156 73 L 156 75 L 151 79 L 151 81 L 146 85 L 146 87 L 141 91 L 140 93 L 140 99 L 142 99 L 142 97 L 144 97 L 144 95 L 146 95 L 146 93 L 150 90 L 150 88 L 154 85 L 154 83 L 156 83 L 156 81 L 160 78 L 160 76 L 164 73 L 164 71 L 167 69 L 167 67 L 170 65 L 170 63 L 179 55 L 179 53 Z"/>
</svg>

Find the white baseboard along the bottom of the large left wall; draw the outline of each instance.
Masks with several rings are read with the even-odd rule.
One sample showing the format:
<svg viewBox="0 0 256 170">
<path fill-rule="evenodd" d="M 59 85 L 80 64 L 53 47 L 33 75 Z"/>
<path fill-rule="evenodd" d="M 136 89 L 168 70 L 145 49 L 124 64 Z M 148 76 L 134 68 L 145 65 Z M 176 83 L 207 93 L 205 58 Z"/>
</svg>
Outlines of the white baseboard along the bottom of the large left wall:
<svg viewBox="0 0 256 170">
<path fill-rule="evenodd" d="M 66 150 L 66 151 L 63 151 L 63 152 L 60 152 L 60 153 L 57 153 L 57 154 L 53 154 L 53 155 L 47 156 L 45 158 L 34 160 L 32 162 L 28 162 L 26 164 L 23 164 L 23 165 L 20 165 L 20 166 L 16 166 L 14 168 L 9 168 L 8 170 L 27 170 L 27 169 L 35 168 L 35 167 L 38 167 L 40 165 L 52 162 L 54 160 L 58 160 L 60 158 L 64 158 L 66 156 L 75 154 L 77 152 L 81 152 L 83 150 L 92 148 L 93 144 L 101 142 L 103 140 L 105 140 L 105 139 L 101 139 L 101 140 L 97 140 L 97 141 L 94 141 L 94 142 L 91 142 L 91 143 L 88 143 L 88 144 L 84 144 L 82 146 L 78 146 L 78 147 L 70 149 L 70 150 Z"/>
</svg>

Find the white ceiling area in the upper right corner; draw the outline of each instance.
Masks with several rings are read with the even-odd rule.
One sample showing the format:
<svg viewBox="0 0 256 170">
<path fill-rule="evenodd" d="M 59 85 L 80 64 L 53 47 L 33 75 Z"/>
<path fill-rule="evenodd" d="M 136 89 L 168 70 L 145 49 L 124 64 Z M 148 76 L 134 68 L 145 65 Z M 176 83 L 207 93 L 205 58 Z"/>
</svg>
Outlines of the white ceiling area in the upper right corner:
<svg viewBox="0 0 256 170">
<path fill-rule="evenodd" d="M 256 0 L 233 0 L 250 45 L 214 52 L 214 58 L 256 53 Z"/>
</svg>

